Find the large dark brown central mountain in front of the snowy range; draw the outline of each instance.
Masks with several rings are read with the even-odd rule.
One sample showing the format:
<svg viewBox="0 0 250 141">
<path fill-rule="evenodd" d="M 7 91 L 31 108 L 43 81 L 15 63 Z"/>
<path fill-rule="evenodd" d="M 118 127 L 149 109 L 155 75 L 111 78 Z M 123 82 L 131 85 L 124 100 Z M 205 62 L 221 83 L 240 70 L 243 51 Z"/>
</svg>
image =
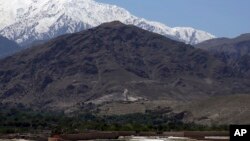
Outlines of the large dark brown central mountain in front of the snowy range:
<svg viewBox="0 0 250 141">
<path fill-rule="evenodd" d="M 235 68 L 205 51 L 120 22 L 60 36 L 0 66 L 1 103 L 40 109 L 250 91 L 248 70 L 231 75 Z"/>
</svg>

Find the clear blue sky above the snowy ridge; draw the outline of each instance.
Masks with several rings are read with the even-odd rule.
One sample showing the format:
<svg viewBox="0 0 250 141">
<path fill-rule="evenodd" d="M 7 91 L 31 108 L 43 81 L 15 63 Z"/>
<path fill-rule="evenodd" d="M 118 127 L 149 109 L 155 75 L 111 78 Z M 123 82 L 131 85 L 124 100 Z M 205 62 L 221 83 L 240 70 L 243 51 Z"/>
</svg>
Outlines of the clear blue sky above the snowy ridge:
<svg viewBox="0 0 250 141">
<path fill-rule="evenodd" d="M 250 32 L 250 0 L 96 0 L 167 26 L 190 26 L 217 37 Z"/>
</svg>

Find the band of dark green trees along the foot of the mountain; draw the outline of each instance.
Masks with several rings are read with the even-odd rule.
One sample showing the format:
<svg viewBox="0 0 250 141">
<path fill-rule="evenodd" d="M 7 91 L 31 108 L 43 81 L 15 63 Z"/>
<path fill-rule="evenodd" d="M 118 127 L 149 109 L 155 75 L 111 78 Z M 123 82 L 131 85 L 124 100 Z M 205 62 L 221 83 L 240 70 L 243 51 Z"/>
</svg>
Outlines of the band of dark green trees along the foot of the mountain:
<svg viewBox="0 0 250 141">
<path fill-rule="evenodd" d="M 209 131 L 228 130 L 228 126 L 205 126 L 183 123 L 176 117 L 147 112 L 121 116 L 93 114 L 65 115 L 63 113 L 35 112 L 28 109 L 0 110 L 0 133 L 79 133 L 82 131 Z"/>
</svg>

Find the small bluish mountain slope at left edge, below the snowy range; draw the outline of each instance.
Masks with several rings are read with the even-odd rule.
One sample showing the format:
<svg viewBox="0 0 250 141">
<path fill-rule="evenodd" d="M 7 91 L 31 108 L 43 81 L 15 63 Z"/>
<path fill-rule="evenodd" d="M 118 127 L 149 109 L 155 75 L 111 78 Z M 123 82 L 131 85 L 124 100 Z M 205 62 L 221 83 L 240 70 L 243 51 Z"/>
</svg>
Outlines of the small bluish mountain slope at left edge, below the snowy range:
<svg viewBox="0 0 250 141">
<path fill-rule="evenodd" d="M 13 54 L 20 50 L 20 47 L 14 41 L 0 36 L 0 58 Z"/>
</svg>

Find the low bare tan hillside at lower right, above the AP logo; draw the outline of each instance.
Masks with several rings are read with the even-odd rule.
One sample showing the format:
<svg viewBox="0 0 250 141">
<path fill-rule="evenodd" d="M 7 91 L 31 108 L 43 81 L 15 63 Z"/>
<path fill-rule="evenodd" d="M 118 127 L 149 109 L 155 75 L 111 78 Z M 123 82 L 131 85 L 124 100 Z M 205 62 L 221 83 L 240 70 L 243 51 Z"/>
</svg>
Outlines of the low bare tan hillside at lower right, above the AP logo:
<svg viewBox="0 0 250 141">
<path fill-rule="evenodd" d="M 215 96 L 184 104 L 179 109 L 181 111 L 190 111 L 187 120 L 199 124 L 249 124 L 249 100 L 249 93 Z"/>
</svg>

